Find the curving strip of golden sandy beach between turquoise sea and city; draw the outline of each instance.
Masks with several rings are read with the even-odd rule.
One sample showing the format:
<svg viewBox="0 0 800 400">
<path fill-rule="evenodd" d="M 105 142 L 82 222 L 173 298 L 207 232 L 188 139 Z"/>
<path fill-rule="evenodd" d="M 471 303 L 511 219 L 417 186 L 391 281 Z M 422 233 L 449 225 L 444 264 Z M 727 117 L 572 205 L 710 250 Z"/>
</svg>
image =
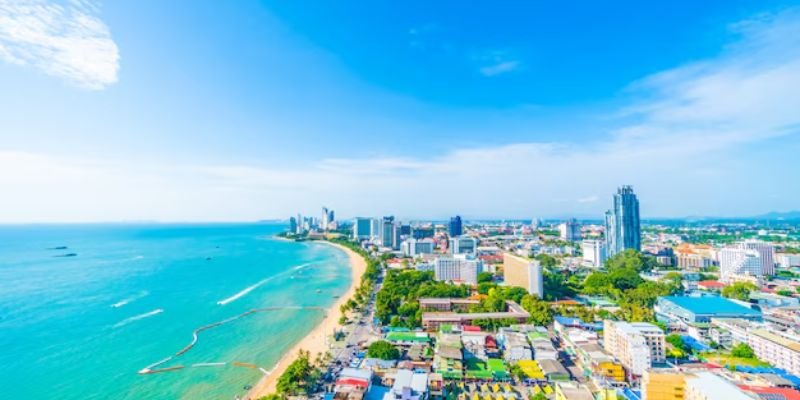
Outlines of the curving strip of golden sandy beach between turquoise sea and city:
<svg viewBox="0 0 800 400">
<path fill-rule="evenodd" d="M 270 393 L 275 393 L 278 378 L 281 376 L 281 374 L 283 374 L 289 364 L 291 364 L 291 362 L 297 358 L 297 354 L 300 350 L 308 351 L 311 354 L 312 359 L 316 358 L 317 353 L 325 353 L 328 351 L 326 337 L 333 335 L 334 330 L 339 328 L 339 307 L 347 302 L 348 299 L 353 297 L 353 295 L 355 295 L 356 288 L 361 282 L 361 276 L 367 269 L 367 263 L 364 258 L 347 247 L 323 241 L 318 243 L 325 243 L 327 245 L 337 247 L 347 253 L 348 258 L 350 259 L 350 274 L 352 277 L 352 283 L 347 289 L 347 292 L 340 296 L 336 302 L 331 305 L 325 314 L 325 318 L 319 323 L 319 325 L 314 327 L 314 329 L 309 332 L 308 335 L 306 335 L 288 352 L 286 352 L 286 354 L 284 354 L 283 357 L 278 360 L 278 363 L 273 367 L 269 375 L 261 378 L 261 380 L 259 380 L 258 383 L 253 386 L 253 389 L 251 389 L 247 395 L 247 398 L 249 399 L 255 400 Z"/>
</svg>

